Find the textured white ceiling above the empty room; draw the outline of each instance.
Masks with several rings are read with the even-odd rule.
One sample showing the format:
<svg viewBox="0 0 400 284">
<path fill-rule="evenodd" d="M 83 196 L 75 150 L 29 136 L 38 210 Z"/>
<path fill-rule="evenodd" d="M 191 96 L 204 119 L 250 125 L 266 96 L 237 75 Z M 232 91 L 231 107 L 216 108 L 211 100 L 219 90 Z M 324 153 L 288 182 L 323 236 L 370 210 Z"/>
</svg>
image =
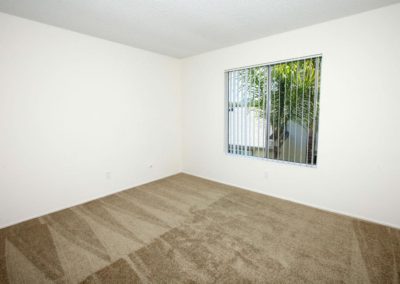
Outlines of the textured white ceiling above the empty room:
<svg viewBox="0 0 400 284">
<path fill-rule="evenodd" d="M 396 2 L 0 0 L 0 11 L 183 58 Z"/>
</svg>

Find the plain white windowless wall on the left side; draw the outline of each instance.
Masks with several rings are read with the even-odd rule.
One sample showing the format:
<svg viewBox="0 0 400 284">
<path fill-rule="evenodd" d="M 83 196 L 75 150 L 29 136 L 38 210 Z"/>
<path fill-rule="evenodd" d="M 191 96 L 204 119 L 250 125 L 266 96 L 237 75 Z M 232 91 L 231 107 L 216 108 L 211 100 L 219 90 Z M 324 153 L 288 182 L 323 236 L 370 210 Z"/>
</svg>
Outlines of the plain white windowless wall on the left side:
<svg viewBox="0 0 400 284">
<path fill-rule="evenodd" d="M 180 80 L 177 59 L 0 13 L 0 227 L 179 172 Z"/>
</svg>

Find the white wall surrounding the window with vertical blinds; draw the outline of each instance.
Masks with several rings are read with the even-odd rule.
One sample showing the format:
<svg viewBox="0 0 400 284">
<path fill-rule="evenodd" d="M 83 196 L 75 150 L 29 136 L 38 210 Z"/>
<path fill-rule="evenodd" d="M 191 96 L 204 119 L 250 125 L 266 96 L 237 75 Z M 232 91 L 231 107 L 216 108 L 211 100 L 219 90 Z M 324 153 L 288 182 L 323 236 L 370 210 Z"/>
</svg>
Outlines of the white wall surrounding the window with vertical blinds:
<svg viewBox="0 0 400 284">
<path fill-rule="evenodd" d="M 399 35 L 398 4 L 185 59 L 184 171 L 400 227 Z M 318 167 L 226 155 L 224 70 L 318 53 Z"/>
</svg>

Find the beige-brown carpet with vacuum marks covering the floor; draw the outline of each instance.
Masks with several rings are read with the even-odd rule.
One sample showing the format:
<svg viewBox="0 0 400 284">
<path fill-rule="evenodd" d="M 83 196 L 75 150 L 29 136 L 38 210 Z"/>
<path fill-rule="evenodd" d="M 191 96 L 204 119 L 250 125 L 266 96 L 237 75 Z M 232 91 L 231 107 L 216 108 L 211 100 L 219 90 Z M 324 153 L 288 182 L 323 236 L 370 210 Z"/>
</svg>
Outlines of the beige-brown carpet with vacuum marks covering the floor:
<svg viewBox="0 0 400 284">
<path fill-rule="evenodd" d="M 399 230 L 185 174 L 0 230 L 0 283 L 399 279 Z"/>
</svg>

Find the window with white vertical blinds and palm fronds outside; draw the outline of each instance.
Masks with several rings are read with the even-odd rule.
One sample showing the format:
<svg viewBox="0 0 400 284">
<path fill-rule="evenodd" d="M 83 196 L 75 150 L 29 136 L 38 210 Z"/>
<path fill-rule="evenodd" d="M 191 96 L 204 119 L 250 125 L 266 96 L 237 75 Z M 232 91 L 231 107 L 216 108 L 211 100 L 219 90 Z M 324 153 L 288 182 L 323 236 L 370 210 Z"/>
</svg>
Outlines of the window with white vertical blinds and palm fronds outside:
<svg viewBox="0 0 400 284">
<path fill-rule="evenodd" d="M 228 153 L 316 165 L 321 59 L 227 71 Z"/>
</svg>

